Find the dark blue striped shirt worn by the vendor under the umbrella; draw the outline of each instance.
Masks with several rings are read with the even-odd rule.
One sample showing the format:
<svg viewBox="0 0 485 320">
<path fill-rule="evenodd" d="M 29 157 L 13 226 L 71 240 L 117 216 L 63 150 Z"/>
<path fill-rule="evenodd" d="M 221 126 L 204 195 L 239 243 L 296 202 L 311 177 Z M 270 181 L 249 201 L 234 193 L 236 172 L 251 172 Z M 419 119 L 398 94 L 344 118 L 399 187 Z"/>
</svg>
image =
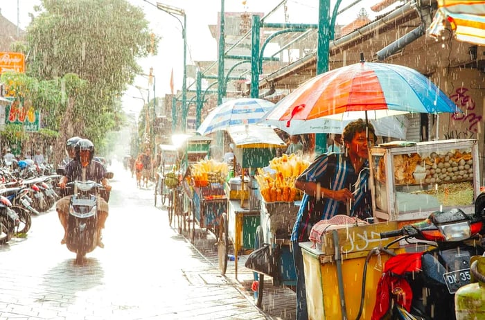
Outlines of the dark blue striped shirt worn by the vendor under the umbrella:
<svg viewBox="0 0 485 320">
<path fill-rule="evenodd" d="M 354 195 L 350 215 L 365 219 L 372 216 L 371 194 L 368 189 L 369 161 L 365 161 L 360 172 L 355 172 L 351 160 L 345 154 L 321 154 L 297 178 L 299 181 L 319 182 L 321 188 L 342 190 L 348 188 Z M 337 214 L 346 214 L 345 202 L 303 195 L 301 206 L 294 222 L 291 240 L 308 241 L 312 226 L 319 220 L 330 219 Z"/>
</svg>

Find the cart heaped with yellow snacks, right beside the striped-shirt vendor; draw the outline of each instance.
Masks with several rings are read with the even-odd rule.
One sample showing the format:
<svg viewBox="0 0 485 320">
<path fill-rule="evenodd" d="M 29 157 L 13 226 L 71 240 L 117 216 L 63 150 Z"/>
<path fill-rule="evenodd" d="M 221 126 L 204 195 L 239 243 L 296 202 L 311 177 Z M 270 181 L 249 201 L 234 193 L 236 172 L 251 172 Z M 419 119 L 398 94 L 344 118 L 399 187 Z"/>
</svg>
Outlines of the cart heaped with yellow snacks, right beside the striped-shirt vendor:
<svg viewBox="0 0 485 320">
<path fill-rule="evenodd" d="M 270 161 L 265 170 L 258 170 L 256 180 L 261 191 L 261 224 L 256 229 L 254 249 L 264 246 L 268 254 L 253 257 L 250 254 L 246 267 L 254 270 L 256 305 L 261 308 L 265 276 L 270 276 L 274 286 L 296 285 L 296 272 L 291 251 L 291 233 L 299 204 L 301 191 L 294 188 L 294 180 L 310 165 L 306 157 L 283 154 Z M 255 258 L 256 260 L 252 260 Z M 261 267 L 263 266 L 263 267 Z"/>
</svg>

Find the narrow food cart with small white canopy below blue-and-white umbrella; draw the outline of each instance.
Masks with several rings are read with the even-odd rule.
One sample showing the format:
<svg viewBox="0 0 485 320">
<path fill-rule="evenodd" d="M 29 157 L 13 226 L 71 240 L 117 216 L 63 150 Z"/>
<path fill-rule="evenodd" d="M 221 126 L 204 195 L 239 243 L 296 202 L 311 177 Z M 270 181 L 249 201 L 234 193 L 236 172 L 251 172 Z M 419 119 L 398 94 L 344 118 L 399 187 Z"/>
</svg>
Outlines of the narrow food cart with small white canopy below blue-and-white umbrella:
<svg viewBox="0 0 485 320">
<path fill-rule="evenodd" d="M 286 148 L 286 145 L 271 127 L 241 125 L 230 127 L 227 132 L 235 147 L 234 157 L 244 174 L 229 179 L 225 186 L 229 202 L 227 215 L 221 215 L 220 220 L 218 260 L 220 272 L 225 274 L 229 245 L 232 245 L 238 278 L 238 255 L 254 250 L 256 228 L 261 219 L 261 194 L 252 175 L 256 168 L 267 166 L 276 157 L 276 150 Z"/>
</svg>

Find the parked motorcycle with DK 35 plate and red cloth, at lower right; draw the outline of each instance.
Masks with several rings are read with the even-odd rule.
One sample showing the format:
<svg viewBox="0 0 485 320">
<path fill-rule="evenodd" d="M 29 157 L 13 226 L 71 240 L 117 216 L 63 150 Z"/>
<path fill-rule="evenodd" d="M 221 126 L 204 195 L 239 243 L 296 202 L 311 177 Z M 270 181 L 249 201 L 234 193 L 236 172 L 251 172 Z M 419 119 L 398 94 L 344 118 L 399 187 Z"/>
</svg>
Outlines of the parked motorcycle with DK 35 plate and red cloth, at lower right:
<svg viewBox="0 0 485 320">
<path fill-rule="evenodd" d="M 470 283 L 470 258 L 484 254 L 485 194 L 475 201 L 475 214 L 459 208 L 436 211 L 427 219 L 380 233 L 380 238 L 424 246 L 425 251 L 392 256 L 377 287 L 373 320 L 455 319 L 455 292 Z"/>
</svg>

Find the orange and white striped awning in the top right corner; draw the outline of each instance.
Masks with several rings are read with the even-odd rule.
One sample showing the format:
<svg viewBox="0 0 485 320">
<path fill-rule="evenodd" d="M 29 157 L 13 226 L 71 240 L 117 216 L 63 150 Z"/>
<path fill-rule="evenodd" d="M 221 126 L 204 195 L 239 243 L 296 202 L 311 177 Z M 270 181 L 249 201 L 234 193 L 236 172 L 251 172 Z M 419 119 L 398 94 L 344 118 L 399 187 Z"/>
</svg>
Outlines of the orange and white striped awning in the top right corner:
<svg viewBox="0 0 485 320">
<path fill-rule="evenodd" d="M 438 0 L 438 11 L 427 29 L 428 35 L 441 37 L 448 24 L 455 39 L 485 45 L 485 1 Z"/>
</svg>

